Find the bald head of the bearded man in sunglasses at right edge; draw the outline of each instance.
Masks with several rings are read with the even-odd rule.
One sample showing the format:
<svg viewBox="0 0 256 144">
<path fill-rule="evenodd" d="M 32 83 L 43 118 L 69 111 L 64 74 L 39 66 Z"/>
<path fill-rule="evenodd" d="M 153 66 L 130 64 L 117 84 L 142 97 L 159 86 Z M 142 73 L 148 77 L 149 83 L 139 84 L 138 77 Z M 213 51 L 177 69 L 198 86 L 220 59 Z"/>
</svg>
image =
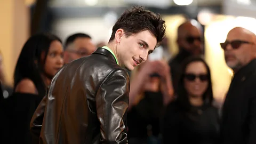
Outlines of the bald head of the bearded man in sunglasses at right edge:
<svg viewBox="0 0 256 144">
<path fill-rule="evenodd" d="M 256 35 L 252 31 L 235 27 L 227 35 L 226 42 L 222 44 L 225 50 L 227 65 L 237 71 L 256 58 Z"/>
</svg>

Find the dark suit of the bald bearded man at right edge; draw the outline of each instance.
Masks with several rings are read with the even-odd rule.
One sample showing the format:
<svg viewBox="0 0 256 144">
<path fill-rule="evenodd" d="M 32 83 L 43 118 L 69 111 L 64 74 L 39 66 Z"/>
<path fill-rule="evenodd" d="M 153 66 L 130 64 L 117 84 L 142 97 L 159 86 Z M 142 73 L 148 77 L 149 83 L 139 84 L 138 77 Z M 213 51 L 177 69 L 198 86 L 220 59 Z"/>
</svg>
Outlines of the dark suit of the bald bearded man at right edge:
<svg viewBox="0 0 256 144">
<path fill-rule="evenodd" d="M 256 143 L 256 59 L 243 67 L 230 84 L 222 111 L 223 144 Z"/>
</svg>

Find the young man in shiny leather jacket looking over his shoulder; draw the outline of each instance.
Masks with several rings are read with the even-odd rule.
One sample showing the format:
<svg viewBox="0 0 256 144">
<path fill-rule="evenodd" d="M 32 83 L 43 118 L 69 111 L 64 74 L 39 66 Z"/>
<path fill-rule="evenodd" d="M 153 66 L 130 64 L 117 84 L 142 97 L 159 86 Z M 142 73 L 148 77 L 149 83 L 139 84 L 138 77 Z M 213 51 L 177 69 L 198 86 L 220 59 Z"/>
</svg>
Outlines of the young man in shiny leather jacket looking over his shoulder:
<svg viewBox="0 0 256 144">
<path fill-rule="evenodd" d="M 63 67 L 31 120 L 39 134 L 44 117 L 39 143 L 127 143 L 130 81 L 123 68 L 145 62 L 165 27 L 159 14 L 133 7 L 116 21 L 107 46 Z"/>
</svg>

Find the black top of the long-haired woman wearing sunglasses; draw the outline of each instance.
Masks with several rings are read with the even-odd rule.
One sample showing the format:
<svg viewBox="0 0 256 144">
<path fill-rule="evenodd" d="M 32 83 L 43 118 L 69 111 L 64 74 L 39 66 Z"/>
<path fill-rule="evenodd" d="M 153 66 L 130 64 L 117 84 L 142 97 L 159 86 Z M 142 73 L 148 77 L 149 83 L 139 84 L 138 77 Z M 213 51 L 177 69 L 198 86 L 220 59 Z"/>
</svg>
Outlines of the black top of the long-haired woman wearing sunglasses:
<svg viewBox="0 0 256 144">
<path fill-rule="evenodd" d="M 191 107 L 185 111 L 177 101 L 169 104 L 163 122 L 163 143 L 217 144 L 218 109 L 212 105 Z"/>
</svg>

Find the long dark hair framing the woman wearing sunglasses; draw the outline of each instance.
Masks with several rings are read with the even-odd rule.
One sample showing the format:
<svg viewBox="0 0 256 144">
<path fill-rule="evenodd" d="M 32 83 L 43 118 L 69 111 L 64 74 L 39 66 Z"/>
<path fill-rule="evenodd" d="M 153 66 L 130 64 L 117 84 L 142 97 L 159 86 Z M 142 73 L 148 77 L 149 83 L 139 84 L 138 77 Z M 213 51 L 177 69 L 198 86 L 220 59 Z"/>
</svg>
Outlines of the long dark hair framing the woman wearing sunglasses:
<svg viewBox="0 0 256 144">
<path fill-rule="evenodd" d="M 185 75 L 185 71 L 187 66 L 191 63 L 191 62 L 202 62 L 204 63 L 205 68 L 207 69 L 207 76 L 208 76 L 208 87 L 205 91 L 205 93 L 203 94 L 203 100 L 205 103 L 209 103 L 210 105 L 212 105 L 212 101 L 213 101 L 213 93 L 212 93 L 212 81 L 211 81 L 211 73 L 210 73 L 210 68 L 207 65 L 207 63 L 204 61 L 203 58 L 201 57 L 189 57 L 187 58 L 182 65 L 182 69 L 181 69 L 181 76 L 178 82 L 178 91 L 177 91 L 177 101 L 180 102 L 180 104 L 183 106 L 183 108 L 185 108 L 185 110 L 189 110 L 191 105 L 189 102 L 189 98 L 188 98 L 188 93 L 187 90 L 185 89 L 184 86 L 184 75 Z"/>
</svg>

